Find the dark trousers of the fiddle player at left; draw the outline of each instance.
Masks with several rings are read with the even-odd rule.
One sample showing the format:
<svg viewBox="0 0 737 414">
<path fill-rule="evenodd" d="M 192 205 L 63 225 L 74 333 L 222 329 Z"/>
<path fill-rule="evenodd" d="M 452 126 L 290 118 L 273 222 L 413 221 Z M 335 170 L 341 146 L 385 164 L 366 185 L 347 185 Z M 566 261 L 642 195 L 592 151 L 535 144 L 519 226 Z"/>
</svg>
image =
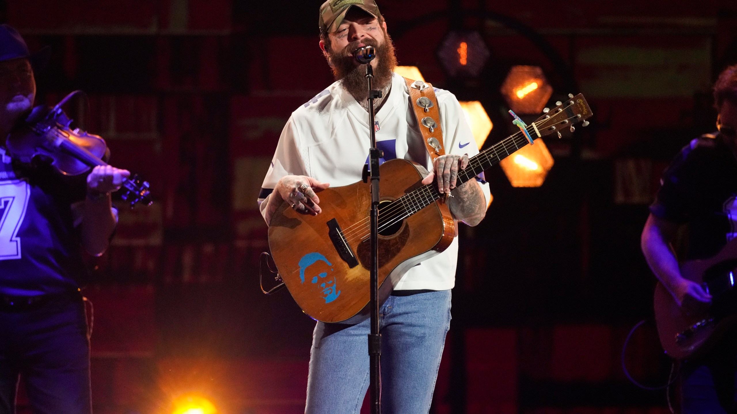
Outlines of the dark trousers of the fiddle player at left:
<svg viewBox="0 0 737 414">
<path fill-rule="evenodd" d="M 33 413 L 90 414 L 89 368 L 81 298 L 0 308 L 0 414 L 14 413 L 18 374 Z"/>
</svg>

